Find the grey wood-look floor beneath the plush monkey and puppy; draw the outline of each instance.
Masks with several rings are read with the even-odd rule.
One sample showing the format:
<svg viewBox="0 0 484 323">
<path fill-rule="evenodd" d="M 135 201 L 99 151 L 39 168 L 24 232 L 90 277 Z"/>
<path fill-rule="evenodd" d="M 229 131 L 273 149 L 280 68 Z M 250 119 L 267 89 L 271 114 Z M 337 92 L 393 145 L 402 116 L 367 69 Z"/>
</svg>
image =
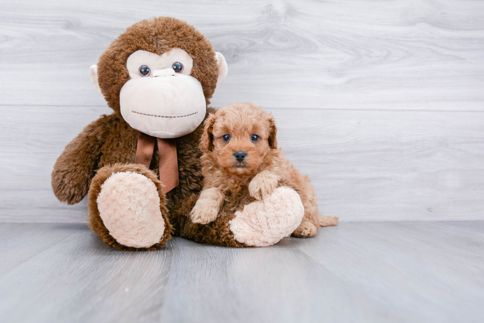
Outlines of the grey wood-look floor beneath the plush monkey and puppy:
<svg viewBox="0 0 484 323">
<path fill-rule="evenodd" d="M 482 322 L 484 221 L 352 222 L 229 249 L 110 249 L 84 224 L 0 224 L 2 322 Z"/>
</svg>

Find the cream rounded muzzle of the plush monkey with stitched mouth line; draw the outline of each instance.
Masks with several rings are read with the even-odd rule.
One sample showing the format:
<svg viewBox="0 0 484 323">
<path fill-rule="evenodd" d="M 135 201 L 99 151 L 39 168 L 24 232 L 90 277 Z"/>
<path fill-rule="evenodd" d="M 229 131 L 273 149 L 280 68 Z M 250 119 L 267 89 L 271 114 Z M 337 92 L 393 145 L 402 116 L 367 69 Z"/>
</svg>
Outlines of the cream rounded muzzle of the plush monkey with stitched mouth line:
<svg viewBox="0 0 484 323">
<path fill-rule="evenodd" d="M 177 138 L 193 132 L 206 112 L 202 84 L 173 69 L 154 70 L 131 78 L 121 88 L 121 115 L 136 130 L 158 138 Z"/>
</svg>

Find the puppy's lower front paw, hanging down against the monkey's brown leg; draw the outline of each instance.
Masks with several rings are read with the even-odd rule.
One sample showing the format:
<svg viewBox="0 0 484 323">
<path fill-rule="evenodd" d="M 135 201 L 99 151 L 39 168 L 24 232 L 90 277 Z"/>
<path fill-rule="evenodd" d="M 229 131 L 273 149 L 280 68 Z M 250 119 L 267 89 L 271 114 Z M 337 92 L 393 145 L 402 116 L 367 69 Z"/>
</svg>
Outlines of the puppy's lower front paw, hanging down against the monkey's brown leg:
<svg viewBox="0 0 484 323">
<path fill-rule="evenodd" d="M 212 187 L 202 190 L 200 198 L 190 212 L 192 222 L 207 224 L 214 221 L 224 199 L 224 194 L 218 188 Z"/>
</svg>

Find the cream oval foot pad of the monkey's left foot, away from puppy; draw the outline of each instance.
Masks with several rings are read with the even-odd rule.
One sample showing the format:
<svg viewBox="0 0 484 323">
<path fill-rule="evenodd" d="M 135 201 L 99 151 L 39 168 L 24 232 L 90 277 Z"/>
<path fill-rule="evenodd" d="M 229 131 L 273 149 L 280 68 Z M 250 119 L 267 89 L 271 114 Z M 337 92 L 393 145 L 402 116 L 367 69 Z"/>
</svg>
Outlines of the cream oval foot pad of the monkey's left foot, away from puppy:
<svg viewBox="0 0 484 323">
<path fill-rule="evenodd" d="M 121 245 L 149 248 L 161 241 L 164 219 L 155 183 L 138 173 L 120 172 L 101 185 L 97 197 L 104 225 Z"/>
</svg>

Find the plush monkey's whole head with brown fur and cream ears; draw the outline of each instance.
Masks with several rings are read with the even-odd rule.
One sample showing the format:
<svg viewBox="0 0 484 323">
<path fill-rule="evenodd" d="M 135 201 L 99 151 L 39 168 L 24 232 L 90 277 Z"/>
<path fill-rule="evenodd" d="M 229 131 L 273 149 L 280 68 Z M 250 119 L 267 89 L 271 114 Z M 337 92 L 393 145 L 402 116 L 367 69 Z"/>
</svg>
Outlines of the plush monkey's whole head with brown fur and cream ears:
<svg viewBox="0 0 484 323">
<path fill-rule="evenodd" d="M 96 89 L 131 127 L 176 138 L 200 125 L 227 62 L 193 26 L 158 17 L 128 27 L 89 71 Z"/>
</svg>

